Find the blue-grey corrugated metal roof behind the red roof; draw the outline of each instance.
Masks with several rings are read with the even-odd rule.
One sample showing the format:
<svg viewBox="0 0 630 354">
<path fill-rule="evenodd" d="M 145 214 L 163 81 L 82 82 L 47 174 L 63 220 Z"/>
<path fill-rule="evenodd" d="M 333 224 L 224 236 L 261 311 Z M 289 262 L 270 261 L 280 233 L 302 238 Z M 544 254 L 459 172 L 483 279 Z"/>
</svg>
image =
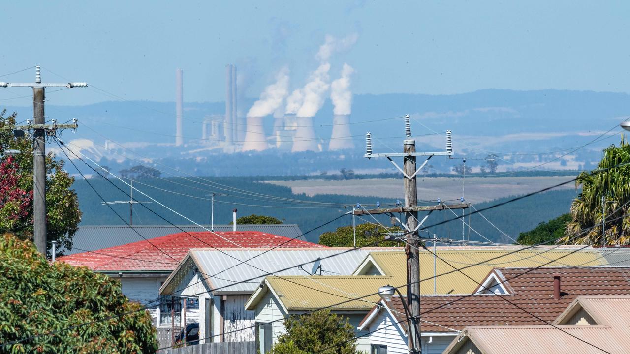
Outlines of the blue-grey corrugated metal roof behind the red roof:
<svg viewBox="0 0 630 354">
<path fill-rule="evenodd" d="M 206 231 L 203 227 L 196 225 L 180 225 L 178 227 L 171 225 L 134 225 L 132 229 L 132 227 L 127 225 L 79 226 L 79 229 L 72 237 L 72 249 L 63 249 L 62 251 L 67 255 L 143 241 L 144 239 L 138 233 L 147 239 L 152 239 L 154 237 L 176 234 L 182 232 L 182 230 L 186 232 Z M 210 229 L 209 225 L 205 225 L 205 227 Z M 302 231 L 297 224 L 243 224 L 237 225 L 236 230 L 261 231 L 289 238 L 297 237 L 301 241 L 306 241 L 304 236 L 301 236 Z M 215 225 L 214 231 L 232 231 L 232 225 Z"/>
</svg>

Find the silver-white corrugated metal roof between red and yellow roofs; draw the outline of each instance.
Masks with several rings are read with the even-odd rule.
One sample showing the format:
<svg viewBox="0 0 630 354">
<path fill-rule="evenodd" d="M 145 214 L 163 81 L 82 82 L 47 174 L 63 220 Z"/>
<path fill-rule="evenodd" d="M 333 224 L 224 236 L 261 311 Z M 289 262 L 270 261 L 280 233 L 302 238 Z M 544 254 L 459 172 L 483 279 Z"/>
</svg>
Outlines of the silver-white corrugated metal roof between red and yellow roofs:
<svg viewBox="0 0 630 354">
<path fill-rule="evenodd" d="M 317 258 L 325 258 L 321 261 L 322 275 L 352 275 L 352 272 L 371 251 L 401 251 L 401 248 L 362 248 L 349 252 L 348 250 L 350 248 L 278 248 L 264 253 L 265 249 L 224 249 L 222 250 L 224 253 L 222 253 L 215 249 L 191 249 L 190 254 L 200 271 L 207 275 L 216 275 L 216 277 L 210 278 L 212 288 L 221 288 L 220 292 L 229 293 L 254 292 L 256 290 L 260 282 L 265 279 L 266 273 L 253 266 L 268 273 L 289 268 L 279 271 L 275 275 L 309 275 L 314 261 Z M 333 254 L 340 255 L 326 258 Z M 254 256 L 256 258 L 253 258 Z M 243 260 L 248 260 L 248 264 L 240 262 Z M 302 269 L 297 268 L 297 265 L 306 262 L 308 262 L 307 265 L 304 265 Z M 232 266 L 234 268 L 231 268 Z M 192 270 L 190 267 L 180 267 L 176 271 L 180 274 L 171 275 L 172 279 L 169 278 L 169 284 L 164 285 L 166 292 L 170 291 L 169 288 L 173 286 L 178 287 L 175 283 L 186 278 L 185 274 Z M 219 273 L 221 271 L 222 273 Z M 247 282 L 243 282 L 244 280 Z M 234 284 L 234 282 L 243 283 Z"/>
</svg>

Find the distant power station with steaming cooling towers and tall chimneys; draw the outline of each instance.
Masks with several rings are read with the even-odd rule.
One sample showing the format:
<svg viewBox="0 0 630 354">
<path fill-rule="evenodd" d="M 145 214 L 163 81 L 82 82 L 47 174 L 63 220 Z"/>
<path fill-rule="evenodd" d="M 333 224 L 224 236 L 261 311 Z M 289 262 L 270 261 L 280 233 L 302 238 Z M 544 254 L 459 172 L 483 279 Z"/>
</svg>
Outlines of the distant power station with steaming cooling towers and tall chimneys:
<svg viewBox="0 0 630 354">
<path fill-rule="evenodd" d="M 345 64 L 344 72 L 347 71 Z M 236 65 L 226 65 L 226 101 L 225 113 L 207 115 L 201 127 L 201 141 L 205 149 L 219 150 L 226 153 L 246 151 L 266 151 L 275 149 L 285 152 L 304 151 L 340 151 L 354 149 L 355 144 L 350 133 L 350 106 L 352 93 L 348 89 L 349 81 L 340 77 L 332 84 L 320 88 L 319 93 L 331 88 L 331 101 L 335 106 L 330 120 L 319 124 L 314 115 L 323 104 L 324 98 L 319 94 L 318 102 L 308 102 L 308 94 L 294 91 L 297 97 L 290 108 L 287 87 L 289 77 L 278 74 L 278 81 L 268 86 L 261 94 L 260 100 L 246 114 L 239 114 L 238 86 Z M 342 74 L 345 76 L 345 73 Z M 185 144 L 183 137 L 183 71 L 175 72 L 175 146 Z M 311 83 L 309 83 L 311 84 Z M 308 84 L 307 84 L 308 85 Z M 304 89 L 308 89 L 305 86 Z M 339 92 L 343 91 L 341 94 Z M 313 94 L 311 93 L 311 96 Z M 306 97 L 304 97 L 306 96 Z M 341 97 L 341 99 L 340 99 Z M 340 113 L 341 112 L 341 113 Z M 306 113 L 299 115 L 298 113 Z M 314 127 L 318 125 L 332 126 L 329 138 L 318 137 Z M 195 139 L 197 140 L 197 139 Z"/>
</svg>

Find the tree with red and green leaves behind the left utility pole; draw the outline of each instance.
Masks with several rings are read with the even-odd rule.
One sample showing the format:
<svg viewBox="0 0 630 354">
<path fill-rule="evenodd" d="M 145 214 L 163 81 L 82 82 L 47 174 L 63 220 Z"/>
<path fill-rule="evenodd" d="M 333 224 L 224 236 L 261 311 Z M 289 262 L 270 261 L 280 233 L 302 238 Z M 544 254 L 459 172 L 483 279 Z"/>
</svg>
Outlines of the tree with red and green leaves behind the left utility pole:
<svg viewBox="0 0 630 354">
<path fill-rule="evenodd" d="M 0 113 L 0 128 L 15 125 L 16 115 Z M 9 155 L 5 151 L 20 151 Z M 46 156 L 46 215 L 48 241 L 72 248 L 72 236 L 81 221 L 74 178 L 64 171 L 64 161 Z M 33 239 L 33 141 L 0 130 L 0 232 Z M 50 247 L 50 243 L 49 246 Z"/>
</svg>

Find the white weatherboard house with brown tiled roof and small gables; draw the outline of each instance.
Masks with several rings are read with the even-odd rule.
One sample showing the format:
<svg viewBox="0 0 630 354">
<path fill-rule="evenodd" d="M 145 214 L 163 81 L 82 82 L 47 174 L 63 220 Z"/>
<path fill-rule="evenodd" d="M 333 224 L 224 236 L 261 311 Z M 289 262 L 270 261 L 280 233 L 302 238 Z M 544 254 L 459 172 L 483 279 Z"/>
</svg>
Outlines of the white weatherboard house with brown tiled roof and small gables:
<svg viewBox="0 0 630 354">
<path fill-rule="evenodd" d="M 630 267 L 496 268 L 481 283 L 490 291 L 477 288 L 474 295 L 421 297 L 423 353 L 442 353 L 467 326 L 541 326 L 583 295 L 630 295 Z M 401 299 L 393 297 L 380 300 L 358 330 L 370 333 L 370 346 L 406 353 L 405 320 Z"/>
</svg>

